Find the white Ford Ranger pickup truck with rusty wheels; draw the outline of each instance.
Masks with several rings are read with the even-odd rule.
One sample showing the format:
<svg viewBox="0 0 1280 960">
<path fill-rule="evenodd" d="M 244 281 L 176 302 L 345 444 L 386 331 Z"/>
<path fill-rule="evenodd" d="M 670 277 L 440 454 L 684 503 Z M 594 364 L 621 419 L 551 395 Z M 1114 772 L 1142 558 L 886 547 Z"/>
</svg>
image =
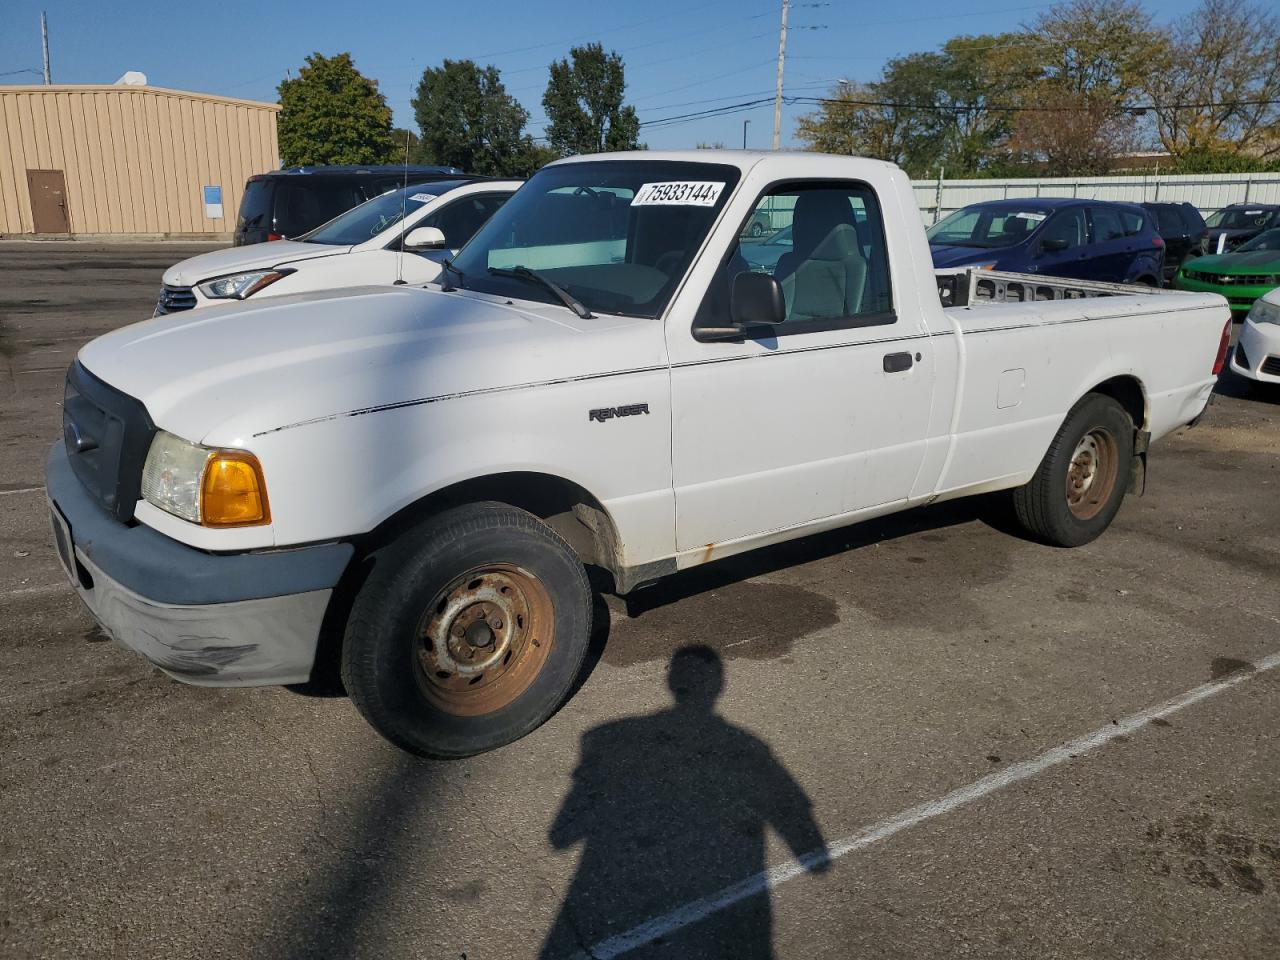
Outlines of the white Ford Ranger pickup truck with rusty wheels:
<svg viewBox="0 0 1280 960">
<path fill-rule="evenodd" d="M 762 206 L 791 211 L 771 273 L 740 248 Z M 929 264 L 890 164 L 559 161 L 439 284 L 87 344 L 49 454 L 59 552 L 111 636 L 179 680 L 337 663 L 399 746 L 486 750 L 567 695 L 588 566 L 626 593 L 991 490 L 1030 536 L 1084 544 L 1148 442 L 1208 403 L 1220 297 Z"/>
</svg>

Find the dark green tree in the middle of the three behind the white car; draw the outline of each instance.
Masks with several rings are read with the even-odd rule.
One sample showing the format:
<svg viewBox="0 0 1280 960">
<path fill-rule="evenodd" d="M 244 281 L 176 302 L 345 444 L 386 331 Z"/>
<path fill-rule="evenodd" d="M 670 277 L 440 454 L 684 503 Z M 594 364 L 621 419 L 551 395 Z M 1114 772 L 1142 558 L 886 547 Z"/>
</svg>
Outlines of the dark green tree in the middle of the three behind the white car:
<svg viewBox="0 0 1280 960">
<path fill-rule="evenodd" d="M 529 111 L 502 84 L 498 68 L 445 60 L 422 72 L 413 97 L 421 163 L 458 166 L 485 177 L 526 175 L 538 160 Z"/>
</svg>

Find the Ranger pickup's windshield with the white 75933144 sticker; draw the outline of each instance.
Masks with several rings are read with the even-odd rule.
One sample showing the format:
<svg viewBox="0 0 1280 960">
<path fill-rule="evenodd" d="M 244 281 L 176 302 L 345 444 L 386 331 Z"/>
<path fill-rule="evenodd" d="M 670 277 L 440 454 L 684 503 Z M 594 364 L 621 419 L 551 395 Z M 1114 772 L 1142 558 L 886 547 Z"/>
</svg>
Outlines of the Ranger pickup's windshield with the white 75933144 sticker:
<svg viewBox="0 0 1280 960">
<path fill-rule="evenodd" d="M 655 317 L 737 179 L 736 166 L 673 160 L 543 168 L 454 257 L 449 279 L 468 291 L 559 303 L 545 287 L 490 273 L 524 266 L 591 312 Z"/>
</svg>

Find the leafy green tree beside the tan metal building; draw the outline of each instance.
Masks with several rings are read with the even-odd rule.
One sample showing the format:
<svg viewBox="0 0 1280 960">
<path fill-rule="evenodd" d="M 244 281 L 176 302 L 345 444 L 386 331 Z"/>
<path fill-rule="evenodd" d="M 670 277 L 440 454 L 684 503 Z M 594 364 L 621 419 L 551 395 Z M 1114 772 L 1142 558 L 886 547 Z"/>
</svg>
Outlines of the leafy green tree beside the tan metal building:
<svg viewBox="0 0 1280 960">
<path fill-rule="evenodd" d="M 285 166 L 383 164 L 394 157 L 387 97 L 356 69 L 351 54 L 311 54 L 297 78 L 280 83 L 279 93 Z"/>
</svg>

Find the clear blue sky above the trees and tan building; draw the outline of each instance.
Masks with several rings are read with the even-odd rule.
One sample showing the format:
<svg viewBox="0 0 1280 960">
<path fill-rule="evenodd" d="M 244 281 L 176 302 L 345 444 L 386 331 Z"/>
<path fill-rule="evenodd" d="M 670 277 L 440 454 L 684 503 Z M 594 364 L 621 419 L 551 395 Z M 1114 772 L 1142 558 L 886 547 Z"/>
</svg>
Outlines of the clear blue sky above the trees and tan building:
<svg viewBox="0 0 1280 960">
<path fill-rule="evenodd" d="M 814 95 L 837 78 L 874 79 L 892 56 L 936 49 L 960 33 L 1010 29 L 1050 5 L 795 3 L 786 90 Z M 1158 20 L 1171 22 L 1196 5 L 1196 0 L 1162 0 L 1148 8 Z M 413 128 L 410 99 L 422 69 L 445 58 L 471 58 L 502 70 L 507 90 L 530 113 L 530 132 L 540 136 L 547 64 L 573 44 L 599 41 L 622 54 L 627 99 L 641 122 L 772 96 L 780 6 L 776 0 L 5 0 L 0 74 L 9 76 L 0 76 L 0 83 L 40 82 L 40 10 L 45 9 L 55 83 L 110 83 L 125 70 L 141 70 L 155 86 L 274 101 L 285 70 L 296 73 L 307 54 L 346 50 L 362 73 L 379 82 L 396 123 Z M 37 73 L 10 73 L 24 68 Z M 795 116 L 809 109 L 783 108 L 783 145 L 794 142 Z M 648 127 L 641 140 L 657 148 L 717 141 L 741 146 L 742 120 L 750 120 L 749 146 L 768 147 L 772 104 L 731 116 Z"/>
</svg>

